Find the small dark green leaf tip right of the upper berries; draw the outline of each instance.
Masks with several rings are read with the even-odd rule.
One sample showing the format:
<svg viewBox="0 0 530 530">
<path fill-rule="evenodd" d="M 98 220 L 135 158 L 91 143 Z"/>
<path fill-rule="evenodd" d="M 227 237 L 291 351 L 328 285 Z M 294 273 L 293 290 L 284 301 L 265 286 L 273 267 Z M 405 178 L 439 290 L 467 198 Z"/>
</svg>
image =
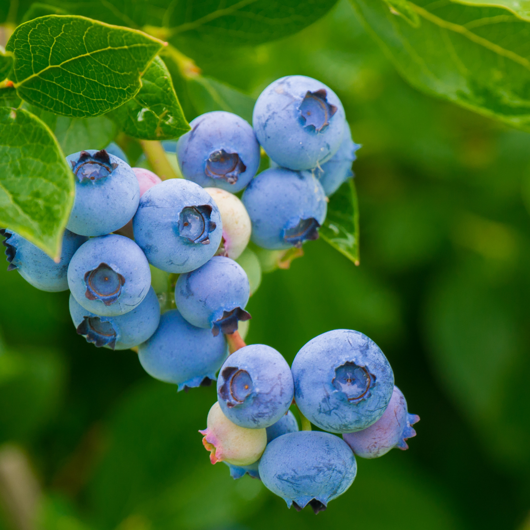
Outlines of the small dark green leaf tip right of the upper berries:
<svg viewBox="0 0 530 530">
<path fill-rule="evenodd" d="M 354 179 L 348 179 L 329 198 L 328 215 L 319 234 L 334 249 L 359 264 L 359 206 Z"/>
</svg>

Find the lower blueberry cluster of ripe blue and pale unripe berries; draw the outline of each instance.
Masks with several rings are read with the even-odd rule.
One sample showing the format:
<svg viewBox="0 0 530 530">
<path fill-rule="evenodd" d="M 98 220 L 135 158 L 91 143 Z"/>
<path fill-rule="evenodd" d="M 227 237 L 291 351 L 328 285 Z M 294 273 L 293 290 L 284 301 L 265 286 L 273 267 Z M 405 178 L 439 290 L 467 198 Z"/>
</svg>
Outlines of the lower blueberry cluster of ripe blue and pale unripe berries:
<svg viewBox="0 0 530 530">
<path fill-rule="evenodd" d="M 290 369 L 269 346 L 237 350 L 220 369 L 217 398 L 199 431 L 211 463 L 225 462 L 234 479 L 245 473 L 261 479 L 288 507 L 310 505 L 315 514 L 350 487 L 355 455 L 407 449 L 419 421 L 381 349 L 352 330 L 310 340 Z M 311 423 L 322 430 L 312 431 Z"/>
</svg>

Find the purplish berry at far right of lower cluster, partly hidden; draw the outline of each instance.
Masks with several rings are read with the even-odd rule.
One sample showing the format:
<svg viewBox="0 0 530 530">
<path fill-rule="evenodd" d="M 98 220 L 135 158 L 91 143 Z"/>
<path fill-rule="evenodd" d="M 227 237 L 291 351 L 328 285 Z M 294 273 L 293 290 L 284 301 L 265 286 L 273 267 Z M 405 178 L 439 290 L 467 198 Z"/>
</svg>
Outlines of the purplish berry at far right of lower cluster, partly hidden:
<svg viewBox="0 0 530 530">
<path fill-rule="evenodd" d="M 392 399 L 383 416 L 370 427 L 358 432 L 343 434 L 342 438 L 357 456 L 377 458 L 394 447 L 403 451 L 408 449 L 409 446 L 405 440 L 416 436 L 412 425 L 418 421 L 420 417 L 417 414 L 409 414 L 405 396 L 397 386 L 394 386 Z"/>
</svg>

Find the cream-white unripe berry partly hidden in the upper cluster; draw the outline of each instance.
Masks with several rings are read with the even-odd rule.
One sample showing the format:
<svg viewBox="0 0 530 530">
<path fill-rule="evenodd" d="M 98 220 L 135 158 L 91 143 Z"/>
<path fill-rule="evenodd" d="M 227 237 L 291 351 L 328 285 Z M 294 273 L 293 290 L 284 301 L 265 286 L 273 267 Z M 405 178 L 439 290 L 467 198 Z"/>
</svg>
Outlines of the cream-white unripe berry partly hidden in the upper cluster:
<svg viewBox="0 0 530 530">
<path fill-rule="evenodd" d="M 223 252 L 236 260 L 250 241 L 250 217 L 241 200 L 220 188 L 205 188 L 219 208 L 223 222 Z"/>
</svg>

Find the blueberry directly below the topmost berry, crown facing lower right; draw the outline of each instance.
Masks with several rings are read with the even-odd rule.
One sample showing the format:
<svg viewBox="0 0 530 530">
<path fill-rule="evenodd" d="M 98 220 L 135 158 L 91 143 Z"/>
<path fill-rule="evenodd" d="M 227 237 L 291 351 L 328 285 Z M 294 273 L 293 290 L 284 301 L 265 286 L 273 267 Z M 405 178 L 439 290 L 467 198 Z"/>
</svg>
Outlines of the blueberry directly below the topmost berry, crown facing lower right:
<svg viewBox="0 0 530 530">
<path fill-rule="evenodd" d="M 317 239 L 328 208 L 322 185 L 311 173 L 281 167 L 260 173 L 242 200 L 252 221 L 252 241 L 270 250 Z"/>
</svg>

